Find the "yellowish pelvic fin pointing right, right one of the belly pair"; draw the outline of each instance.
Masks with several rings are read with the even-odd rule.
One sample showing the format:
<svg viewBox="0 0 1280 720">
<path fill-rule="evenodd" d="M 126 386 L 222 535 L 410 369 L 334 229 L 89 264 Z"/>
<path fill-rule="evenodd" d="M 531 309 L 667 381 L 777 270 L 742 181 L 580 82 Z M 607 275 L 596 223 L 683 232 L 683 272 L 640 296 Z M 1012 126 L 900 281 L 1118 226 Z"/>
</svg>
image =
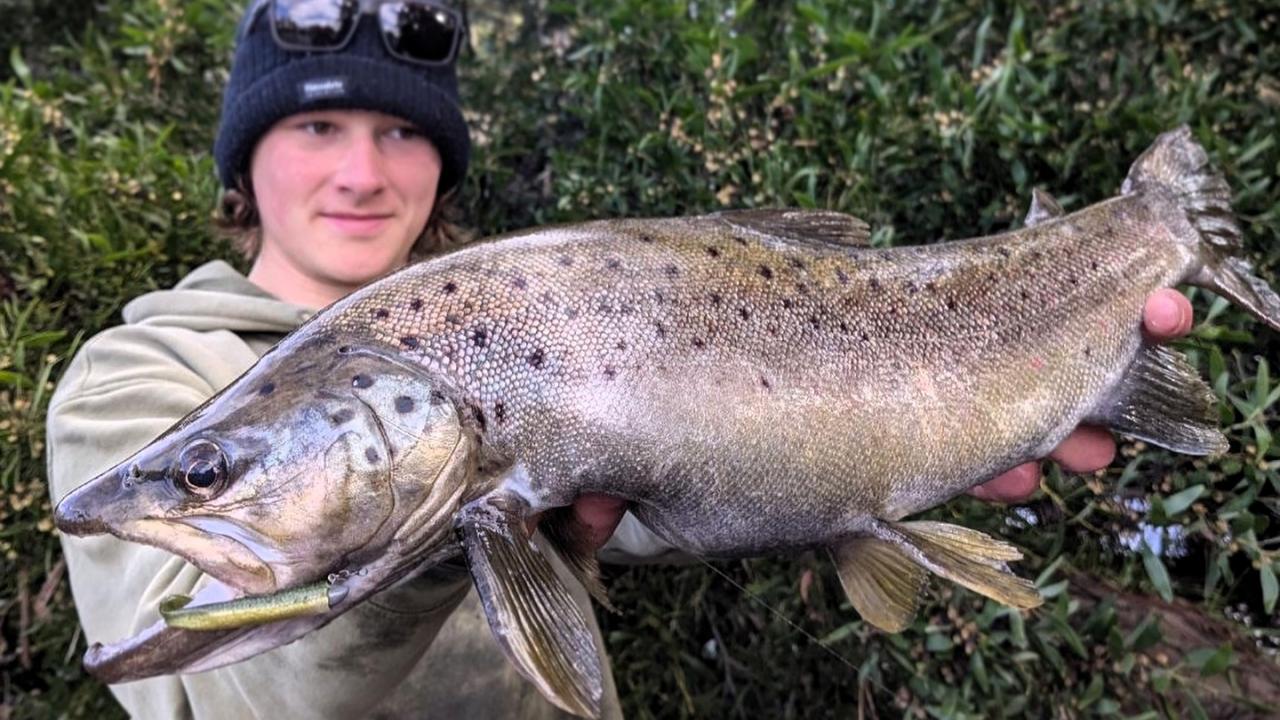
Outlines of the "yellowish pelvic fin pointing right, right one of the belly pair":
<svg viewBox="0 0 1280 720">
<path fill-rule="evenodd" d="M 1014 575 L 1005 565 L 1010 560 L 1020 560 L 1023 553 L 986 533 L 924 520 L 877 520 L 870 533 L 895 546 L 920 568 L 997 602 L 1021 609 L 1043 602 L 1036 585 Z"/>
</svg>

